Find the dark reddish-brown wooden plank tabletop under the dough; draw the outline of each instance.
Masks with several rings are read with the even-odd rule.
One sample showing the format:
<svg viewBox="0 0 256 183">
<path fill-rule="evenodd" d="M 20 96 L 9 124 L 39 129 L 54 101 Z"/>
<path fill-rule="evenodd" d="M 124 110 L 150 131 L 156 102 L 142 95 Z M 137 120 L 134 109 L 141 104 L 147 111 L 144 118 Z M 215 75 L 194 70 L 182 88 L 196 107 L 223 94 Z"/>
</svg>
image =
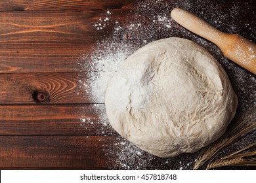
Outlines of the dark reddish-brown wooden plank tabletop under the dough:
<svg viewBox="0 0 256 183">
<path fill-rule="evenodd" d="M 140 6 L 145 3 L 151 7 L 147 12 L 167 14 L 173 7 L 186 8 L 222 31 L 240 33 L 256 42 L 256 1 L 152 2 L 141 1 Z M 223 14 L 207 9 L 209 3 Z M 135 10 L 137 4 L 135 0 L 0 2 L 1 169 L 191 169 L 198 153 L 163 159 L 145 152 L 140 155 L 132 145 L 121 149 L 122 143 L 129 142 L 120 140 L 110 125 L 104 127 L 96 110 L 104 111 L 104 103 L 93 103 L 79 82 L 89 82 L 89 71 L 78 63 L 90 62 L 83 56 L 90 56 L 97 41 L 111 36 L 115 21 L 125 27 L 134 14 L 142 21 L 152 18 L 145 10 Z M 108 10 L 112 12 L 109 24 L 96 30 L 94 25 Z M 230 12 L 237 17 L 230 18 Z M 226 22 L 218 22 L 215 18 L 219 16 L 226 16 Z M 172 24 L 175 27 L 169 32 L 156 31 L 149 40 L 177 36 L 199 44 L 204 41 Z M 236 26 L 228 27 L 230 24 Z M 172 29 L 181 33 L 174 34 Z M 137 34 L 129 33 L 129 37 L 134 41 Z M 120 39 L 124 37 L 120 35 Z M 203 45 L 230 76 L 240 99 L 238 117 L 256 103 L 255 75 L 224 59 L 213 44 Z M 91 121 L 81 125 L 82 117 Z M 255 138 L 253 134 L 248 138 Z"/>
</svg>

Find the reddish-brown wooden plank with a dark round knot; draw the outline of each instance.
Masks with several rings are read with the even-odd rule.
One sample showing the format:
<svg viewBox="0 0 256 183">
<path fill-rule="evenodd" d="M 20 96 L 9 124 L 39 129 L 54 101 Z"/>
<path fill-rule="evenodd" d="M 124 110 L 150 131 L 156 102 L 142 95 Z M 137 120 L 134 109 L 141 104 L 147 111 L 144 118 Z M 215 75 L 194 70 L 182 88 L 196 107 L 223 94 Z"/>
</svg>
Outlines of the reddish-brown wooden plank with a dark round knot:
<svg viewBox="0 0 256 183">
<path fill-rule="evenodd" d="M 89 73 L 0 74 L 0 104 L 93 103 Z M 38 93 L 46 97 L 41 99 Z M 102 101 L 104 102 L 104 101 Z"/>
</svg>

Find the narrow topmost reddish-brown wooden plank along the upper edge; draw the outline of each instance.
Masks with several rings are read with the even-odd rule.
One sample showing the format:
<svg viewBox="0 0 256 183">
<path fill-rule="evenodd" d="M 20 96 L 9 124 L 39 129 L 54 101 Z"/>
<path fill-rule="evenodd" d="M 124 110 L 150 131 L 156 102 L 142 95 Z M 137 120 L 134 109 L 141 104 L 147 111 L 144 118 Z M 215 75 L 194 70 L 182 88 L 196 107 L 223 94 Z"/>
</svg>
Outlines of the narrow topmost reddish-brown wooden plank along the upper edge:
<svg viewBox="0 0 256 183">
<path fill-rule="evenodd" d="M 0 11 L 43 11 L 43 10 L 104 10 L 104 9 L 114 9 L 114 8 L 122 8 L 131 3 L 137 3 L 136 0 L 10 0 L 10 1 L 1 1 L 0 2 Z M 154 1 L 148 1 L 148 3 L 154 4 Z M 198 6 L 198 4 L 202 4 L 202 2 L 194 2 L 194 3 L 181 3 L 179 1 L 163 1 L 160 2 L 163 4 L 169 3 L 170 6 L 190 6 L 190 8 L 202 8 L 202 6 Z M 207 3 L 207 2 L 205 2 Z M 232 7 L 232 5 L 236 5 L 238 7 L 242 7 L 242 9 L 247 9 L 248 3 L 244 0 L 226 0 L 219 1 L 215 0 L 211 3 L 215 3 L 219 5 L 219 8 L 223 10 L 228 10 L 228 8 Z M 256 2 L 250 1 L 249 7 L 255 7 Z"/>
</svg>

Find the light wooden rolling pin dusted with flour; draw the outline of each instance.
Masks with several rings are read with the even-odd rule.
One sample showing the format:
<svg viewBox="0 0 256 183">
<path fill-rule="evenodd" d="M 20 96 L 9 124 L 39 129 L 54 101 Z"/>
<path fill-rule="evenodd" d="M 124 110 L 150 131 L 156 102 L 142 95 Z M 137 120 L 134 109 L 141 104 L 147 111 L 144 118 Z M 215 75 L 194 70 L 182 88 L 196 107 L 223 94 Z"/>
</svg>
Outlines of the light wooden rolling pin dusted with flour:
<svg viewBox="0 0 256 183">
<path fill-rule="evenodd" d="M 171 17 L 189 31 L 216 44 L 226 58 L 256 75 L 256 44 L 241 35 L 223 33 L 181 8 L 174 8 Z"/>
</svg>

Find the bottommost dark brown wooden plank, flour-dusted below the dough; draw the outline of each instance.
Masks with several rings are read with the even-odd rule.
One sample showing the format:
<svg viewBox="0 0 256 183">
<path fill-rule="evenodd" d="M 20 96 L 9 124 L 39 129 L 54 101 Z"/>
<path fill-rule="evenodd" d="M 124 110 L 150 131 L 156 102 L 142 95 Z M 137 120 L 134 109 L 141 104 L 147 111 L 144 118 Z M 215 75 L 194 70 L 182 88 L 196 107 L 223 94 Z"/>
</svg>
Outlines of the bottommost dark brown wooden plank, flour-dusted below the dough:
<svg viewBox="0 0 256 183">
<path fill-rule="evenodd" d="M 1 169 L 179 170 L 181 167 L 191 169 L 199 153 L 158 158 L 139 150 L 119 136 L 0 136 L 0 142 Z M 227 153 L 230 153 L 230 149 Z"/>
</svg>

